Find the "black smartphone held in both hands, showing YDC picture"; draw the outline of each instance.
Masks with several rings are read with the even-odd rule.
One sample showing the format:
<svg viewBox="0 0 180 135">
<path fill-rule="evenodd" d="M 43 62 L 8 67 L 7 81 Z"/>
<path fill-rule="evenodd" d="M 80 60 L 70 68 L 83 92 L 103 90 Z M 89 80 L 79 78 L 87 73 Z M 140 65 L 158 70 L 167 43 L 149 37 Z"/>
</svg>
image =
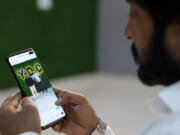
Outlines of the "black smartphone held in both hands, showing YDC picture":
<svg viewBox="0 0 180 135">
<path fill-rule="evenodd" d="M 36 104 L 42 129 L 63 120 L 66 116 L 62 106 L 56 106 L 57 96 L 45 71 L 32 48 L 6 57 L 13 76 L 23 94 Z"/>
</svg>

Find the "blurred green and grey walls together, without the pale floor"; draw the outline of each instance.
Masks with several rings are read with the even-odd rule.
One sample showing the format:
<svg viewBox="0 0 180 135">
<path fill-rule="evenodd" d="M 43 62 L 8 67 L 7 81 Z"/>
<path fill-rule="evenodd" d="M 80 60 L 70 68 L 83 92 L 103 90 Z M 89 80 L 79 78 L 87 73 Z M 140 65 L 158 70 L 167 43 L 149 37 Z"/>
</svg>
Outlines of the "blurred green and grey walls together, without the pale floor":
<svg viewBox="0 0 180 135">
<path fill-rule="evenodd" d="M 4 60 L 34 48 L 49 78 L 92 71 L 134 74 L 124 0 L 6 0 L 0 3 L 0 88 L 15 86 Z"/>
</svg>

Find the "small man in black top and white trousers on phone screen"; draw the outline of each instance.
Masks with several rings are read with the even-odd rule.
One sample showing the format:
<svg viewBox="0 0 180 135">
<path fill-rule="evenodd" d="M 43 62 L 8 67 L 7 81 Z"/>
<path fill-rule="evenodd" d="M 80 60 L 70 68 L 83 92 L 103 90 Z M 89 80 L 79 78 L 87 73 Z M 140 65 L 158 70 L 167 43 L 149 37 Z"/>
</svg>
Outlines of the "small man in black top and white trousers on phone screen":
<svg viewBox="0 0 180 135">
<path fill-rule="evenodd" d="M 34 81 L 26 73 L 25 73 L 25 82 L 26 82 L 27 86 L 29 87 L 32 95 L 35 98 L 38 98 L 38 93 L 37 93 L 36 87 L 34 86 Z"/>
</svg>

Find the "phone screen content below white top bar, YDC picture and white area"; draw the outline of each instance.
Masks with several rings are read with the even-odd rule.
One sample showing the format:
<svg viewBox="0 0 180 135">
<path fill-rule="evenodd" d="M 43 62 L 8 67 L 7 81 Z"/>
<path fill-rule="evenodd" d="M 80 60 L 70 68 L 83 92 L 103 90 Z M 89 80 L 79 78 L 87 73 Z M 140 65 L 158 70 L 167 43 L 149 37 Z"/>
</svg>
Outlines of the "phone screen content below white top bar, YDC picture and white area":
<svg viewBox="0 0 180 135">
<path fill-rule="evenodd" d="M 63 108 L 55 105 L 57 97 L 37 57 L 13 64 L 12 68 L 25 96 L 29 96 L 36 104 L 41 126 L 65 116 Z"/>
</svg>

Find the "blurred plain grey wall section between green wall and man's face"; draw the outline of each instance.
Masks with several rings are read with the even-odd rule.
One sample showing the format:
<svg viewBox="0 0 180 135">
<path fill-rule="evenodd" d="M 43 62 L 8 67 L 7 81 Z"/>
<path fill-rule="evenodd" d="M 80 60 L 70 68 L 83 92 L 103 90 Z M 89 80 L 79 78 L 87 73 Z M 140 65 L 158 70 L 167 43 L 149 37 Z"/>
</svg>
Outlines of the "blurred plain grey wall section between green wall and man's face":
<svg viewBox="0 0 180 135">
<path fill-rule="evenodd" d="M 136 72 L 131 56 L 131 41 L 124 38 L 129 5 L 126 0 L 99 0 L 98 70 Z"/>
</svg>

